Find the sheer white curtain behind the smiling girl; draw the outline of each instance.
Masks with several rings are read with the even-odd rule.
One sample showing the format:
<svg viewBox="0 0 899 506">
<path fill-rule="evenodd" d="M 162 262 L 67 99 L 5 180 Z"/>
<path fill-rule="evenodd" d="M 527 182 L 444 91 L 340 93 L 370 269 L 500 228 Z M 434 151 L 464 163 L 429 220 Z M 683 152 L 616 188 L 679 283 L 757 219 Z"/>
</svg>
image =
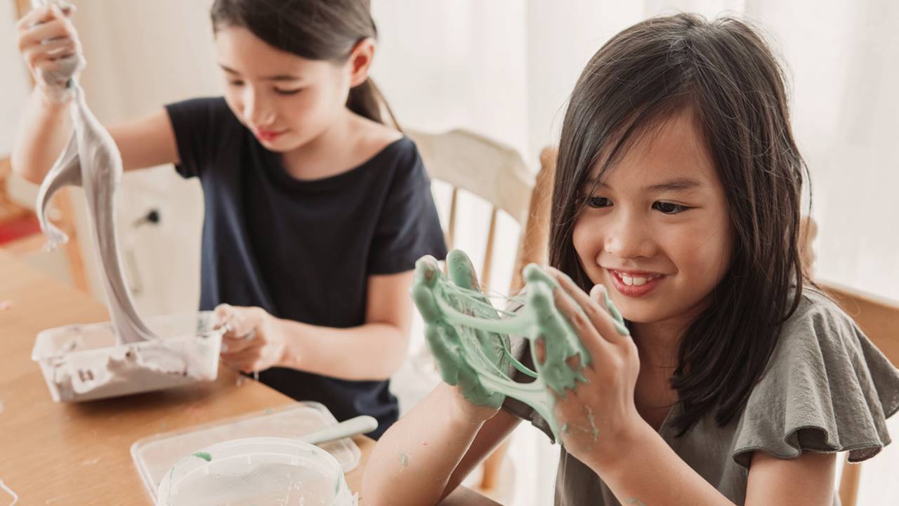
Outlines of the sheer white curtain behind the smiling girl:
<svg viewBox="0 0 899 506">
<path fill-rule="evenodd" d="M 521 149 L 536 170 L 592 54 L 630 24 L 675 11 L 731 14 L 761 28 L 788 69 L 794 132 L 812 173 L 816 276 L 899 300 L 895 2 L 374 0 L 374 76 L 405 126 L 479 131 Z M 476 243 L 482 223 L 472 213 L 458 230 Z M 512 267 L 509 249 L 494 271 Z M 895 499 L 899 485 L 886 472 L 899 465 L 895 446 L 866 464 L 859 504 Z M 557 450 L 526 427 L 511 451 L 513 503 L 551 504 Z"/>
</svg>

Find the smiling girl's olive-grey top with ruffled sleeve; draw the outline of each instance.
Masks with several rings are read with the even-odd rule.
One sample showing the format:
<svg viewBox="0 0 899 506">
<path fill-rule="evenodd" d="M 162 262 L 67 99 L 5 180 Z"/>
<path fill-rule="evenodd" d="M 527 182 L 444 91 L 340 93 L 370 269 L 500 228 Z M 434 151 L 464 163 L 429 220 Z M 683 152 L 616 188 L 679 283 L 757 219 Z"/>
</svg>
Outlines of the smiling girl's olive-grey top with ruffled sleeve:
<svg viewBox="0 0 899 506">
<path fill-rule="evenodd" d="M 523 341 L 515 345 L 530 366 Z M 503 409 L 552 438 L 546 421 L 528 405 L 507 398 Z M 665 442 L 719 492 L 743 504 L 752 452 L 795 458 L 848 451 L 851 462 L 877 455 L 890 443 L 886 419 L 899 411 L 899 369 L 835 303 L 806 289 L 740 416 L 718 427 L 708 413 L 678 438 L 671 425 L 678 410 L 673 406 L 659 429 Z M 597 474 L 561 452 L 557 506 L 619 505 Z M 833 504 L 839 503 L 834 495 Z"/>
</svg>

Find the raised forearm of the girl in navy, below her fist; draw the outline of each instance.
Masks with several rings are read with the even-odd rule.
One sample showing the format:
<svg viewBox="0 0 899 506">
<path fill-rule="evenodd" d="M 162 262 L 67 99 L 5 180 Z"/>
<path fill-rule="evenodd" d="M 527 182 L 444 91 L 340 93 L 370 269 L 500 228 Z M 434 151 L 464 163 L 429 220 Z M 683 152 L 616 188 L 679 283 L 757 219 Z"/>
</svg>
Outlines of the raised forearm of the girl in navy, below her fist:
<svg viewBox="0 0 899 506">
<path fill-rule="evenodd" d="M 31 91 L 13 145 L 13 170 L 40 184 L 66 147 L 72 131 L 68 105 L 47 99 L 38 88 Z"/>
</svg>

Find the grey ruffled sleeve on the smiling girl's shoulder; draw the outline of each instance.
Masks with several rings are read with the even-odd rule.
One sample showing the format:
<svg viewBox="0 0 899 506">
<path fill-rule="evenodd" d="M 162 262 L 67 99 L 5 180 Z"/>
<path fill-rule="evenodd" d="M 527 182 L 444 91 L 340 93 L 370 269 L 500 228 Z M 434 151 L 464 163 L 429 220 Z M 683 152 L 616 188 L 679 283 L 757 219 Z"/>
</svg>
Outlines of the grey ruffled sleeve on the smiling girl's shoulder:
<svg viewBox="0 0 899 506">
<path fill-rule="evenodd" d="M 738 424 L 734 459 L 745 467 L 759 450 L 779 458 L 849 450 L 857 462 L 890 440 L 899 371 L 826 295 L 810 287 L 800 296 Z"/>
</svg>

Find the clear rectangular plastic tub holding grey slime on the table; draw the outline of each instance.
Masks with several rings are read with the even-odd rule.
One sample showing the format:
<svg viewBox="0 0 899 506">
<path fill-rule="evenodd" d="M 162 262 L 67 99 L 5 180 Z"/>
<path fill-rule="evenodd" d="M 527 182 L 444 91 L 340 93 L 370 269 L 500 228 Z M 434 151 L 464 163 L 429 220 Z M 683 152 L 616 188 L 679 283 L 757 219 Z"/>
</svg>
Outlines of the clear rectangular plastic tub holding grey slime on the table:
<svg viewBox="0 0 899 506">
<path fill-rule="evenodd" d="M 223 330 L 213 312 L 147 319 L 160 339 L 117 345 L 110 322 L 68 325 L 38 334 L 38 362 L 56 402 L 82 402 L 164 390 L 218 376 Z"/>
</svg>

